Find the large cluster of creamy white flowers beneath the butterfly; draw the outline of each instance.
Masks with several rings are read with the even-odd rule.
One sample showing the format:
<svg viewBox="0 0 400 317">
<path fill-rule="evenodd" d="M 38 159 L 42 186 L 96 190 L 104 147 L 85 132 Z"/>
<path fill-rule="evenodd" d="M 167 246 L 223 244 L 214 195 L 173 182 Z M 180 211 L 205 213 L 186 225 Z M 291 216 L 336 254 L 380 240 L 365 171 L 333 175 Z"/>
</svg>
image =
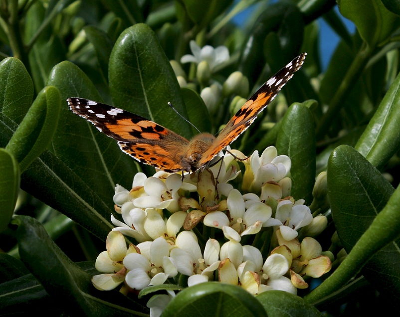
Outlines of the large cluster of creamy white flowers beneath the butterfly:
<svg viewBox="0 0 400 317">
<path fill-rule="evenodd" d="M 240 177 L 235 158 L 245 166 Z M 297 239 L 313 217 L 304 200 L 290 196 L 290 167 L 290 159 L 277 156 L 274 147 L 249 158 L 231 150 L 209 169 L 184 178 L 162 171 L 151 177 L 138 173 L 131 190 L 117 185 L 115 209 L 123 221 L 111 216 L 116 227 L 96 261 L 104 274 L 94 276 L 93 284 L 100 290 L 120 284 L 142 290 L 182 274 L 189 277 L 189 287 L 217 276 L 253 295 L 273 289 L 297 294 L 297 288 L 308 287 L 304 275 L 321 276 L 331 261 L 321 255 L 315 239 Z M 202 232 L 214 228 L 205 230 L 214 236 L 203 236 L 198 226 Z M 268 254 L 241 243 L 266 230 L 272 237 Z M 138 244 L 127 247 L 124 236 Z M 155 303 L 148 305 L 160 309 Z"/>
</svg>

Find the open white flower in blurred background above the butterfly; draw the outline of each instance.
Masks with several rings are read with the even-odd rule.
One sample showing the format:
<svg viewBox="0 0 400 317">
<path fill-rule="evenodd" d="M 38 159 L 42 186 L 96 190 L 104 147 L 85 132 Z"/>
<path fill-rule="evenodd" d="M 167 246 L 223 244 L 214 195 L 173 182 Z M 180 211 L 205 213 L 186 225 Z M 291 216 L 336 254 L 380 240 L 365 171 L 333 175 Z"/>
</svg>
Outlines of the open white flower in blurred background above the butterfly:
<svg viewBox="0 0 400 317">
<path fill-rule="evenodd" d="M 196 41 L 190 41 L 190 47 L 193 55 L 187 54 L 182 56 L 181 63 L 197 63 L 206 61 L 212 70 L 229 59 L 229 51 L 225 46 L 213 48 L 210 45 L 205 45 L 200 49 Z"/>
</svg>

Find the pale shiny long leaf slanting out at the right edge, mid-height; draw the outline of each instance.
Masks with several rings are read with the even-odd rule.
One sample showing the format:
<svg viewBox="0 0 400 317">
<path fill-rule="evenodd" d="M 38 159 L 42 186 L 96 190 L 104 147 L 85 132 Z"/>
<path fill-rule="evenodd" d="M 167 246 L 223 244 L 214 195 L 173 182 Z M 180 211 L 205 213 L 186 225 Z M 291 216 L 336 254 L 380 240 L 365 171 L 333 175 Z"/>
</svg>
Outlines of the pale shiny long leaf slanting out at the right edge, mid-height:
<svg viewBox="0 0 400 317">
<path fill-rule="evenodd" d="M 355 149 L 382 168 L 400 147 L 400 74 L 390 86 Z"/>
</svg>

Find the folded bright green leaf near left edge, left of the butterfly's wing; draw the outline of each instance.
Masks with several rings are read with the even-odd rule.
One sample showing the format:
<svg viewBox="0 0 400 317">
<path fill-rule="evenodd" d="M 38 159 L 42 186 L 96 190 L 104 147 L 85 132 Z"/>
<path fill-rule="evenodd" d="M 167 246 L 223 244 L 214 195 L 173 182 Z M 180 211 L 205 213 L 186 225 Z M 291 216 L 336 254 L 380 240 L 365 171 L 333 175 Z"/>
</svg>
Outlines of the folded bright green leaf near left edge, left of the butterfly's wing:
<svg viewBox="0 0 400 317">
<path fill-rule="evenodd" d="M 6 149 L 19 161 L 23 172 L 50 144 L 60 115 L 60 93 L 53 86 L 37 95 Z"/>
</svg>

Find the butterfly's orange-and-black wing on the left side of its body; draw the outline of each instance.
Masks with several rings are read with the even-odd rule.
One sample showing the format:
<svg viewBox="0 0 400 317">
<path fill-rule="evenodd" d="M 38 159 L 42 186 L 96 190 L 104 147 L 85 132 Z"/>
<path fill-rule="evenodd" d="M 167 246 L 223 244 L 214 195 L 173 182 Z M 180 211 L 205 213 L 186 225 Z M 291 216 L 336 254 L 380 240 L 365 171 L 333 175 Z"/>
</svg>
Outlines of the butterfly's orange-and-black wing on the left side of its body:
<svg viewBox="0 0 400 317">
<path fill-rule="evenodd" d="M 69 108 L 118 141 L 121 150 L 142 163 L 175 172 L 187 170 L 181 157 L 189 141 L 129 111 L 84 98 L 68 98 Z"/>
</svg>

